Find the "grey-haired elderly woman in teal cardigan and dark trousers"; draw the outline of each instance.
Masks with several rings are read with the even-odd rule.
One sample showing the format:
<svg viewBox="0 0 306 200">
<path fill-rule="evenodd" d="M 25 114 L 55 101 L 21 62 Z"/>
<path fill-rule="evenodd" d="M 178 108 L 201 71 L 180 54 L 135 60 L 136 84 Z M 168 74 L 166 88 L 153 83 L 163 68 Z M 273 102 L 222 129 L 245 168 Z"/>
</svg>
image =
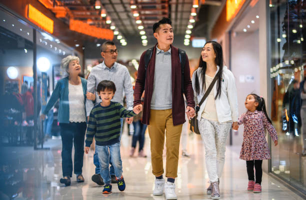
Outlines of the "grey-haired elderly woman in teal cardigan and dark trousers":
<svg viewBox="0 0 306 200">
<path fill-rule="evenodd" d="M 74 144 L 74 173 L 77 182 L 84 182 L 82 176 L 84 136 L 86 131 L 86 89 L 87 80 L 79 77 L 81 66 L 79 58 L 68 55 L 61 60 L 60 67 L 68 76 L 58 80 L 52 95 L 41 114 L 45 118 L 49 109 L 59 99 L 58 121 L 62 142 L 62 175 L 60 182 L 70 185 L 72 177 L 72 143 Z M 92 100 L 93 95 L 87 93 L 87 98 Z"/>
</svg>

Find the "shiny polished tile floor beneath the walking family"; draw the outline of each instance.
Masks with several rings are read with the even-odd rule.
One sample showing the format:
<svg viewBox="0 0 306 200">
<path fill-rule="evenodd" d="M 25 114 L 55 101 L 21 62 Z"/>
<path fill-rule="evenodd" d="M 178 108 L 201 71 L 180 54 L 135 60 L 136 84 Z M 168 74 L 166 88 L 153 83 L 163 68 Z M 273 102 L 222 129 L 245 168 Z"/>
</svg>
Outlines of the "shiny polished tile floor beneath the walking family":
<svg viewBox="0 0 306 200">
<path fill-rule="evenodd" d="M 61 177 L 61 141 L 48 140 L 50 150 L 33 150 L 32 147 L 0 147 L 1 166 L 0 199 L 164 199 L 152 196 L 154 177 L 151 174 L 149 138 L 146 134 L 146 158 L 129 157 L 131 137 L 126 133 L 121 138 L 124 192 L 113 184 L 113 193 L 104 196 L 102 187 L 91 181 L 94 173 L 93 152 L 84 156 L 84 183 L 77 183 L 75 175 L 71 186 L 59 183 Z M 208 175 L 205 169 L 203 144 L 198 135 L 188 136 L 190 157 L 180 157 L 178 177 L 175 180 L 178 199 L 210 199 L 205 194 Z M 3 153 L 4 152 L 4 153 Z M 225 166 L 220 178 L 221 199 L 303 199 L 283 186 L 279 181 L 263 173 L 262 193 L 246 191 L 247 174 L 245 163 L 238 159 L 239 147 L 228 146 Z M 165 164 L 165 163 L 164 163 Z"/>
</svg>

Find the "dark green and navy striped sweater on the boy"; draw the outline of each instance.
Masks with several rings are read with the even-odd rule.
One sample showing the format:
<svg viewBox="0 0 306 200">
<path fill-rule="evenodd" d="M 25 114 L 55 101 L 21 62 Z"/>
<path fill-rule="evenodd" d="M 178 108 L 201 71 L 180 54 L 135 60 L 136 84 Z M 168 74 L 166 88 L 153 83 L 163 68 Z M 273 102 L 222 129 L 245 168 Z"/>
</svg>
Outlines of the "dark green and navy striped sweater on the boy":
<svg viewBox="0 0 306 200">
<path fill-rule="evenodd" d="M 90 146 L 94 137 L 96 145 L 105 146 L 119 142 L 120 118 L 136 115 L 126 110 L 120 103 L 110 101 L 106 107 L 100 103 L 95 105 L 89 115 L 86 130 L 86 146 Z"/>
</svg>

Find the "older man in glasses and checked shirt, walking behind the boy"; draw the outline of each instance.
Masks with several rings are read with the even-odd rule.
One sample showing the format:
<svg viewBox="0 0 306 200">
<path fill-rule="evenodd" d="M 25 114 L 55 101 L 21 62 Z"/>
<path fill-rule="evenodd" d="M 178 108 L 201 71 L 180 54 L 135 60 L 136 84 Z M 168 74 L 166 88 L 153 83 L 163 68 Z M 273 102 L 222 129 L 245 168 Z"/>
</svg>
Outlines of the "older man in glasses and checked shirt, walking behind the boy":
<svg viewBox="0 0 306 200">
<path fill-rule="evenodd" d="M 100 103 L 101 99 L 97 95 L 96 87 L 98 83 L 102 80 L 111 80 L 115 83 L 116 92 L 113 96 L 112 101 L 119 102 L 123 104 L 123 91 L 126 96 L 127 109 L 132 109 L 133 103 L 133 88 L 131 84 L 131 79 L 127 68 L 116 62 L 118 55 L 118 50 L 115 44 L 112 41 L 105 41 L 101 46 L 101 56 L 104 58 L 104 61 L 96 66 L 94 66 L 87 79 L 87 94 L 95 93 L 95 103 Z M 94 106 L 93 101 L 86 99 L 86 115 L 87 117 L 90 114 L 92 107 Z M 126 118 L 126 122 L 131 123 L 133 117 Z M 121 119 L 121 132 L 122 132 L 122 123 Z M 103 180 L 100 176 L 100 165 L 97 153 L 93 155 L 93 163 L 95 167 L 95 174 L 92 175 L 92 181 L 96 182 L 99 185 L 103 184 Z M 113 166 L 110 166 L 110 175 L 111 182 L 115 183 L 115 175 Z"/>
</svg>

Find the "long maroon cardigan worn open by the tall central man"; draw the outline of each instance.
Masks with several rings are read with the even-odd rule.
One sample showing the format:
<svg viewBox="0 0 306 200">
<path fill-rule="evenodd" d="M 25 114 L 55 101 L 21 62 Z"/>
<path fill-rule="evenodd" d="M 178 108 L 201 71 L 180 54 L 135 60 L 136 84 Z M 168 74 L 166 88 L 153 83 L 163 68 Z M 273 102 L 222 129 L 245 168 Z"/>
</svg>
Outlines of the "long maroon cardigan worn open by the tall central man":
<svg viewBox="0 0 306 200">
<path fill-rule="evenodd" d="M 170 46 L 171 46 L 171 70 L 172 70 L 171 72 L 172 73 L 171 77 L 172 78 L 172 118 L 173 118 L 173 125 L 178 125 L 185 122 L 184 98 L 183 94 L 181 93 L 181 67 L 178 55 L 178 48 L 172 45 Z M 141 103 L 140 98 L 143 90 L 145 90 L 142 123 L 149 124 L 150 106 L 151 106 L 153 84 L 154 84 L 156 45 L 153 48 L 152 56 L 146 69 L 146 81 L 145 81 L 145 68 L 144 68 L 145 52 L 146 51 L 144 51 L 141 54 L 139 60 L 138 75 L 134 89 L 134 106 Z M 184 94 L 187 99 L 187 106 L 194 108 L 195 103 L 193 100 L 193 89 L 190 80 L 190 68 L 189 68 L 189 61 L 187 55 L 184 66 Z"/>
</svg>

